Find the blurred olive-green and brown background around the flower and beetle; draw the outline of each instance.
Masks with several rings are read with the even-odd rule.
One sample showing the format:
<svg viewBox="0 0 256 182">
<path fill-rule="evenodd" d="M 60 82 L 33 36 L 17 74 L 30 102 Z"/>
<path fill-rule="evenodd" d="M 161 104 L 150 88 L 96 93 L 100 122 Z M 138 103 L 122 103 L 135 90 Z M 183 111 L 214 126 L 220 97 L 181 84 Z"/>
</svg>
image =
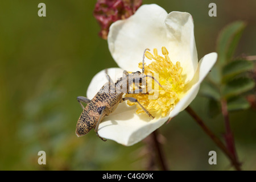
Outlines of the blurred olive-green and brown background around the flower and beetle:
<svg viewBox="0 0 256 182">
<path fill-rule="evenodd" d="M 46 3 L 46 17 L 38 4 Z M 217 17 L 208 16 L 215 2 Z M 0 169 L 1 170 L 143 170 L 150 152 L 146 142 L 125 147 L 102 142 L 94 132 L 77 138 L 81 114 L 77 96 L 86 96 L 92 77 L 117 67 L 100 27 L 93 17 L 96 1 L 1 1 L 0 5 Z M 195 23 L 199 59 L 216 51 L 221 28 L 245 20 L 236 55 L 256 55 L 256 1 L 150 1 L 170 11 L 187 11 Z M 191 106 L 218 135 L 223 118 L 209 118 L 206 98 Z M 256 169 L 255 110 L 230 114 L 242 169 Z M 193 119 L 183 111 L 159 129 L 172 170 L 229 170 L 229 160 Z M 38 164 L 38 151 L 46 151 L 47 164 Z M 209 165 L 208 152 L 217 152 L 217 165 Z M 155 169 L 158 169 L 156 167 Z"/>
</svg>

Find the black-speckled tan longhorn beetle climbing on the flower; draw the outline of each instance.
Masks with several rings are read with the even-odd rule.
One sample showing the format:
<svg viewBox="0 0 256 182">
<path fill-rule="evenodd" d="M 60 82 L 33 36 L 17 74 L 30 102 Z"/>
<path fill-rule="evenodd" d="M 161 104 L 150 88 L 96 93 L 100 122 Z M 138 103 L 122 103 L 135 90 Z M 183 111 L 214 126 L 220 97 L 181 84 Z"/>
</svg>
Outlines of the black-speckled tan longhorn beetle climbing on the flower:
<svg viewBox="0 0 256 182">
<path fill-rule="evenodd" d="M 136 98 L 123 98 L 124 93 L 130 93 L 130 85 L 135 83 L 136 81 L 139 81 L 140 85 L 137 85 L 139 89 L 135 90 L 135 93 L 141 93 L 143 90 L 142 78 L 151 77 L 155 80 L 155 78 L 150 75 L 144 75 L 144 56 L 147 50 L 149 49 L 145 49 L 143 53 L 142 73 L 139 71 L 133 73 L 123 71 L 123 77 L 119 78 L 115 83 L 113 82 L 113 80 L 111 80 L 111 78 L 108 75 L 106 75 L 109 81 L 106 82 L 104 86 L 102 86 L 102 88 L 98 91 L 98 93 L 96 94 L 96 96 L 93 97 L 92 100 L 89 100 L 88 98 L 82 96 L 77 97 L 77 101 L 79 101 L 79 104 L 83 109 L 82 114 L 80 115 L 76 125 L 76 135 L 78 137 L 84 136 L 86 133 L 92 130 L 92 128 L 94 128 L 94 130 L 96 131 L 97 136 L 100 137 L 98 135 L 98 126 L 100 125 L 102 119 L 106 115 L 113 113 L 113 111 L 117 108 L 118 104 L 122 101 L 129 100 L 130 102 L 137 102 L 137 104 L 141 106 L 142 109 L 146 112 L 148 117 L 151 117 L 152 119 L 154 118 L 138 102 Z M 159 84 L 158 81 L 156 82 Z M 87 104 L 86 107 L 84 107 L 81 102 Z M 100 138 L 104 141 L 106 140 L 102 137 Z"/>
</svg>

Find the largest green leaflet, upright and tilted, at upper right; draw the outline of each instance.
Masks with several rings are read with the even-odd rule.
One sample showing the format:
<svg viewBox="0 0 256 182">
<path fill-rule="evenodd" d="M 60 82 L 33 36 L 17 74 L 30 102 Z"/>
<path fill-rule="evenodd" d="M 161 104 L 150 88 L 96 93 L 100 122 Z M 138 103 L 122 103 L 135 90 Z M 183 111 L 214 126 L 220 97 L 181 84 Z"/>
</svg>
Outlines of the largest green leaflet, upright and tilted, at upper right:
<svg viewBox="0 0 256 182">
<path fill-rule="evenodd" d="M 222 29 L 217 42 L 218 60 L 221 65 L 231 60 L 245 26 L 245 22 L 237 21 Z"/>
</svg>

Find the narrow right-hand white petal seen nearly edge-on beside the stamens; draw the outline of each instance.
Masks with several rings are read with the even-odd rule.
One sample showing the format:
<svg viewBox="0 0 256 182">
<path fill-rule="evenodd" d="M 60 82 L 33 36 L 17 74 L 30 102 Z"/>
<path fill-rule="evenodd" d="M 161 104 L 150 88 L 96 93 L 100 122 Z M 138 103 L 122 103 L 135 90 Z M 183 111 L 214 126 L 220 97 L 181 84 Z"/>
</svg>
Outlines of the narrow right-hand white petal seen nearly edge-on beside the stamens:
<svg viewBox="0 0 256 182">
<path fill-rule="evenodd" d="M 177 103 L 174 107 L 174 110 L 171 111 L 170 117 L 173 118 L 177 115 L 180 111 L 184 110 L 196 97 L 197 93 L 199 92 L 200 84 L 204 80 L 204 78 L 209 73 L 210 69 L 212 69 L 213 65 L 216 63 L 217 60 L 217 53 L 212 52 L 208 55 L 205 55 L 198 64 L 197 71 L 195 76 L 188 83 L 189 90 L 185 94 L 185 96 Z"/>
</svg>

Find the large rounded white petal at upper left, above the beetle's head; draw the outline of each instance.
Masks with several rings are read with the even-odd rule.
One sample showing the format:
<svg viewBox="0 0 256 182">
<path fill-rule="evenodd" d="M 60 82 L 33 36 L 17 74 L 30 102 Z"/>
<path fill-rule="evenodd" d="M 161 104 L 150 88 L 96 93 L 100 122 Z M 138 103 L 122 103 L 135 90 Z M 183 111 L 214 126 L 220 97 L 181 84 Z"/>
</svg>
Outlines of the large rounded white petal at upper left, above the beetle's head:
<svg viewBox="0 0 256 182">
<path fill-rule="evenodd" d="M 110 26 L 109 50 L 119 67 L 138 71 L 144 49 L 161 50 L 162 46 L 167 46 L 166 16 L 166 10 L 158 5 L 143 5 L 130 18 Z"/>
</svg>

